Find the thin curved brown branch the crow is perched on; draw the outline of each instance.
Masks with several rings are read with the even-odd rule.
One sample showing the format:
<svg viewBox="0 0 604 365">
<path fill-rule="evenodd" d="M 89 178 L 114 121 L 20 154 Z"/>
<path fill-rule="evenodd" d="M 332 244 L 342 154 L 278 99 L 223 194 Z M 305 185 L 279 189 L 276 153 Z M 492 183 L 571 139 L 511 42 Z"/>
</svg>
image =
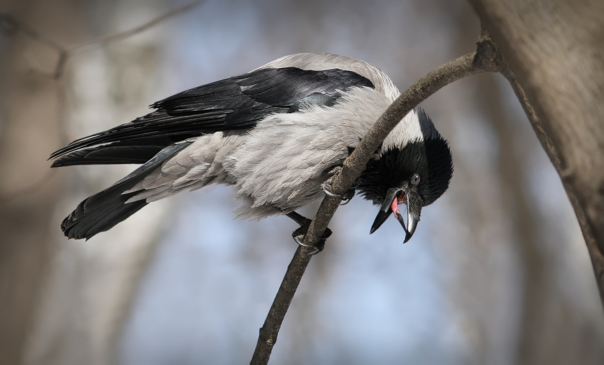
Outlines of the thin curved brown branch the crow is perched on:
<svg viewBox="0 0 604 365">
<path fill-rule="evenodd" d="M 354 152 L 344 161 L 344 168 L 335 176 L 332 183 L 332 192 L 338 195 L 344 195 L 355 179 L 361 175 L 361 172 L 367 166 L 367 162 L 373 155 L 373 151 L 377 149 L 384 138 L 394 129 L 396 124 L 402 120 L 405 115 L 415 108 L 419 103 L 423 102 L 429 95 L 434 94 L 445 85 L 459 80 L 463 77 L 486 72 L 498 72 L 496 64 L 495 46 L 486 33 L 481 34 L 477 42 L 477 51 L 475 53 L 466 54 L 451 62 L 445 63 L 434 71 L 426 74 L 416 83 L 406 89 L 398 99 L 392 103 L 382 116 L 376 121 L 373 127 L 365 135 L 365 137 L 356 147 Z M 339 205 L 339 199 L 329 198 L 326 196 L 315 217 L 310 222 L 310 227 L 304 236 L 304 244 L 314 245 L 319 241 L 321 235 L 326 230 L 329 221 L 333 217 Z M 294 254 L 294 258 L 288 266 L 288 271 L 285 273 L 283 282 L 272 302 L 271 309 L 266 316 L 266 320 L 262 328 L 258 342 L 252 356 L 251 365 L 267 364 L 271 356 L 272 347 L 277 341 L 277 335 L 283 323 L 283 318 L 288 311 L 289 305 L 294 298 L 298 284 L 302 279 L 304 270 L 310 262 L 308 254 L 314 251 L 310 247 L 298 247 Z"/>
</svg>

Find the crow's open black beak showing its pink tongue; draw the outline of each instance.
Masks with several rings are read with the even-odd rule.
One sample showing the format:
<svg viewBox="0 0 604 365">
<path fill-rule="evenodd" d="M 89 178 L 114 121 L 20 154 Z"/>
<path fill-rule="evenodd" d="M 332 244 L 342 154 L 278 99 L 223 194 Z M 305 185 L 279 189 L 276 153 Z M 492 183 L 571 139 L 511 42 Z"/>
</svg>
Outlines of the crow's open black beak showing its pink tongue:
<svg viewBox="0 0 604 365">
<path fill-rule="evenodd" d="M 413 192 L 410 192 L 409 194 L 413 196 L 407 196 L 407 193 L 403 192 L 402 189 L 393 188 L 388 190 L 386 199 L 384 200 L 384 204 L 382 204 L 382 207 L 377 213 L 376 220 L 373 221 L 373 225 L 371 226 L 371 231 L 369 234 L 375 232 L 377 228 L 379 228 L 386 221 L 386 219 L 388 219 L 390 213 L 394 213 L 394 216 L 400 222 L 400 225 L 403 226 L 403 230 L 405 230 L 405 241 L 403 241 L 403 243 L 409 241 L 416 230 L 417 222 L 419 221 L 416 216 L 419 217 L 421 210 L 421 205 L 417 205 L 419 207 L 417 208 L 418 212 L 413 212 L 413 208 L 411 208 L 408 204 L 408 199 L 415 198 L 414 195 L 416 194 Z M 401 202 L 407 204 L 406 224 L 405 219 L 403 218 L 403 215 L 402 213 L 400 213 L 399 210 L 399 203 Z"/>
</svg>

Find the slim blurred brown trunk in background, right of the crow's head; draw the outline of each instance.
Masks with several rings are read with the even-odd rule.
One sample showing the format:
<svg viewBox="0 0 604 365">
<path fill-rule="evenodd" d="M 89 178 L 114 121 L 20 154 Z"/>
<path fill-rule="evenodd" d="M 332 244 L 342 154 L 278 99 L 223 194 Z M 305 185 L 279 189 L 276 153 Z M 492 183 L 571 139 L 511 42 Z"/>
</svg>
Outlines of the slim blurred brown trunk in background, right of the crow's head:
<svg viewBox="0 0 604 365">
<path fill-rule="evenodd" d="M 495 77 L 485 77 L 479 81 L 477 102 L 484 106 L 484 120 L 496 132 L 499 148 L 497 179 L 503 192 L 501 205 L 510 219 L 510 234 L 515 238 L 513 242 L 524 277 L 519 305 L 521 320 L 516 364 L 551 364 L 568 350 L 559 346 L 559 341 L 565 341 L 564 335 L 568 332 L 551 331 L 547 337 L 549 341 L 543 336 L 544 329 L 548 329 L 552 321 L 548 313 L 560 299 L 552 293 L 554 285 L 551 280 L 555 277 L 553 266 L 548 263 L 548 257 L 541 247 L 538 219 L 533 212 L 534 201 L 525 184 L 528 181 L 528 161 L 522 152 L 514 148 L 515 139 L 522 132 L 514 128 L 508 117 L 501 88 L 496 81 Z M 565 320 L 563 315 L 556 317 L 557 321 Z M 547 350 L 542 350 L 544 348 Z"/>
</svg>

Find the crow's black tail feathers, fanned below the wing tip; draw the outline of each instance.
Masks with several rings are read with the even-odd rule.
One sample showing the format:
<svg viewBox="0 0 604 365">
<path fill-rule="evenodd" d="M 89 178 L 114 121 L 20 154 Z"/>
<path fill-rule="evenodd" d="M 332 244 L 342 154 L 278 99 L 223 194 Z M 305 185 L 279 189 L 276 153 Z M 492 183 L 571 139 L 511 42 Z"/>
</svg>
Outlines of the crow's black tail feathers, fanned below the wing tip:
<svg viewBox="0 0 604 365">
<path fill-rule="evenodd" d="M 89 239 L 99 232 L 109 230 L 143 208 L 147 205 L 146 200 L 126 202 L 139 192 L 127 194 L 124 192 L 132 189 L 153 170 L 161 166 L 165 160 L 189 144 L 191 143 L 184 142 L 165 147 L 149 161 L 108 189 L 86 198 L 63 220 L 61 229 L 65 236 L 74 239 Z"/>
</svg>

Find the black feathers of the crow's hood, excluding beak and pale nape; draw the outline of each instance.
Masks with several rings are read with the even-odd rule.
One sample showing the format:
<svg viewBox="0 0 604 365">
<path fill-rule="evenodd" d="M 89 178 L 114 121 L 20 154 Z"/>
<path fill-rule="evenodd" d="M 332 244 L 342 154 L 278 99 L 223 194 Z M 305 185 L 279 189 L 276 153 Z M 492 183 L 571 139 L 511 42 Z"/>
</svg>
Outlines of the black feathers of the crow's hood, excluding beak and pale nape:
<svg viewBox="0 0 604 365">
<path fill-rule="evenodd" d="M 440 135 L 416 140 L 403 149 L 392 148 L 376 160 L 370 160 L 359 180 L 359 192 L 373 204 L 381 205 L 388 189 L 400 187 L 411 176 L 420 176 L 417 186 L 423 206 L 432 204 L 449 187 L 453 160 L 449 144 Z"/>
</svg>

